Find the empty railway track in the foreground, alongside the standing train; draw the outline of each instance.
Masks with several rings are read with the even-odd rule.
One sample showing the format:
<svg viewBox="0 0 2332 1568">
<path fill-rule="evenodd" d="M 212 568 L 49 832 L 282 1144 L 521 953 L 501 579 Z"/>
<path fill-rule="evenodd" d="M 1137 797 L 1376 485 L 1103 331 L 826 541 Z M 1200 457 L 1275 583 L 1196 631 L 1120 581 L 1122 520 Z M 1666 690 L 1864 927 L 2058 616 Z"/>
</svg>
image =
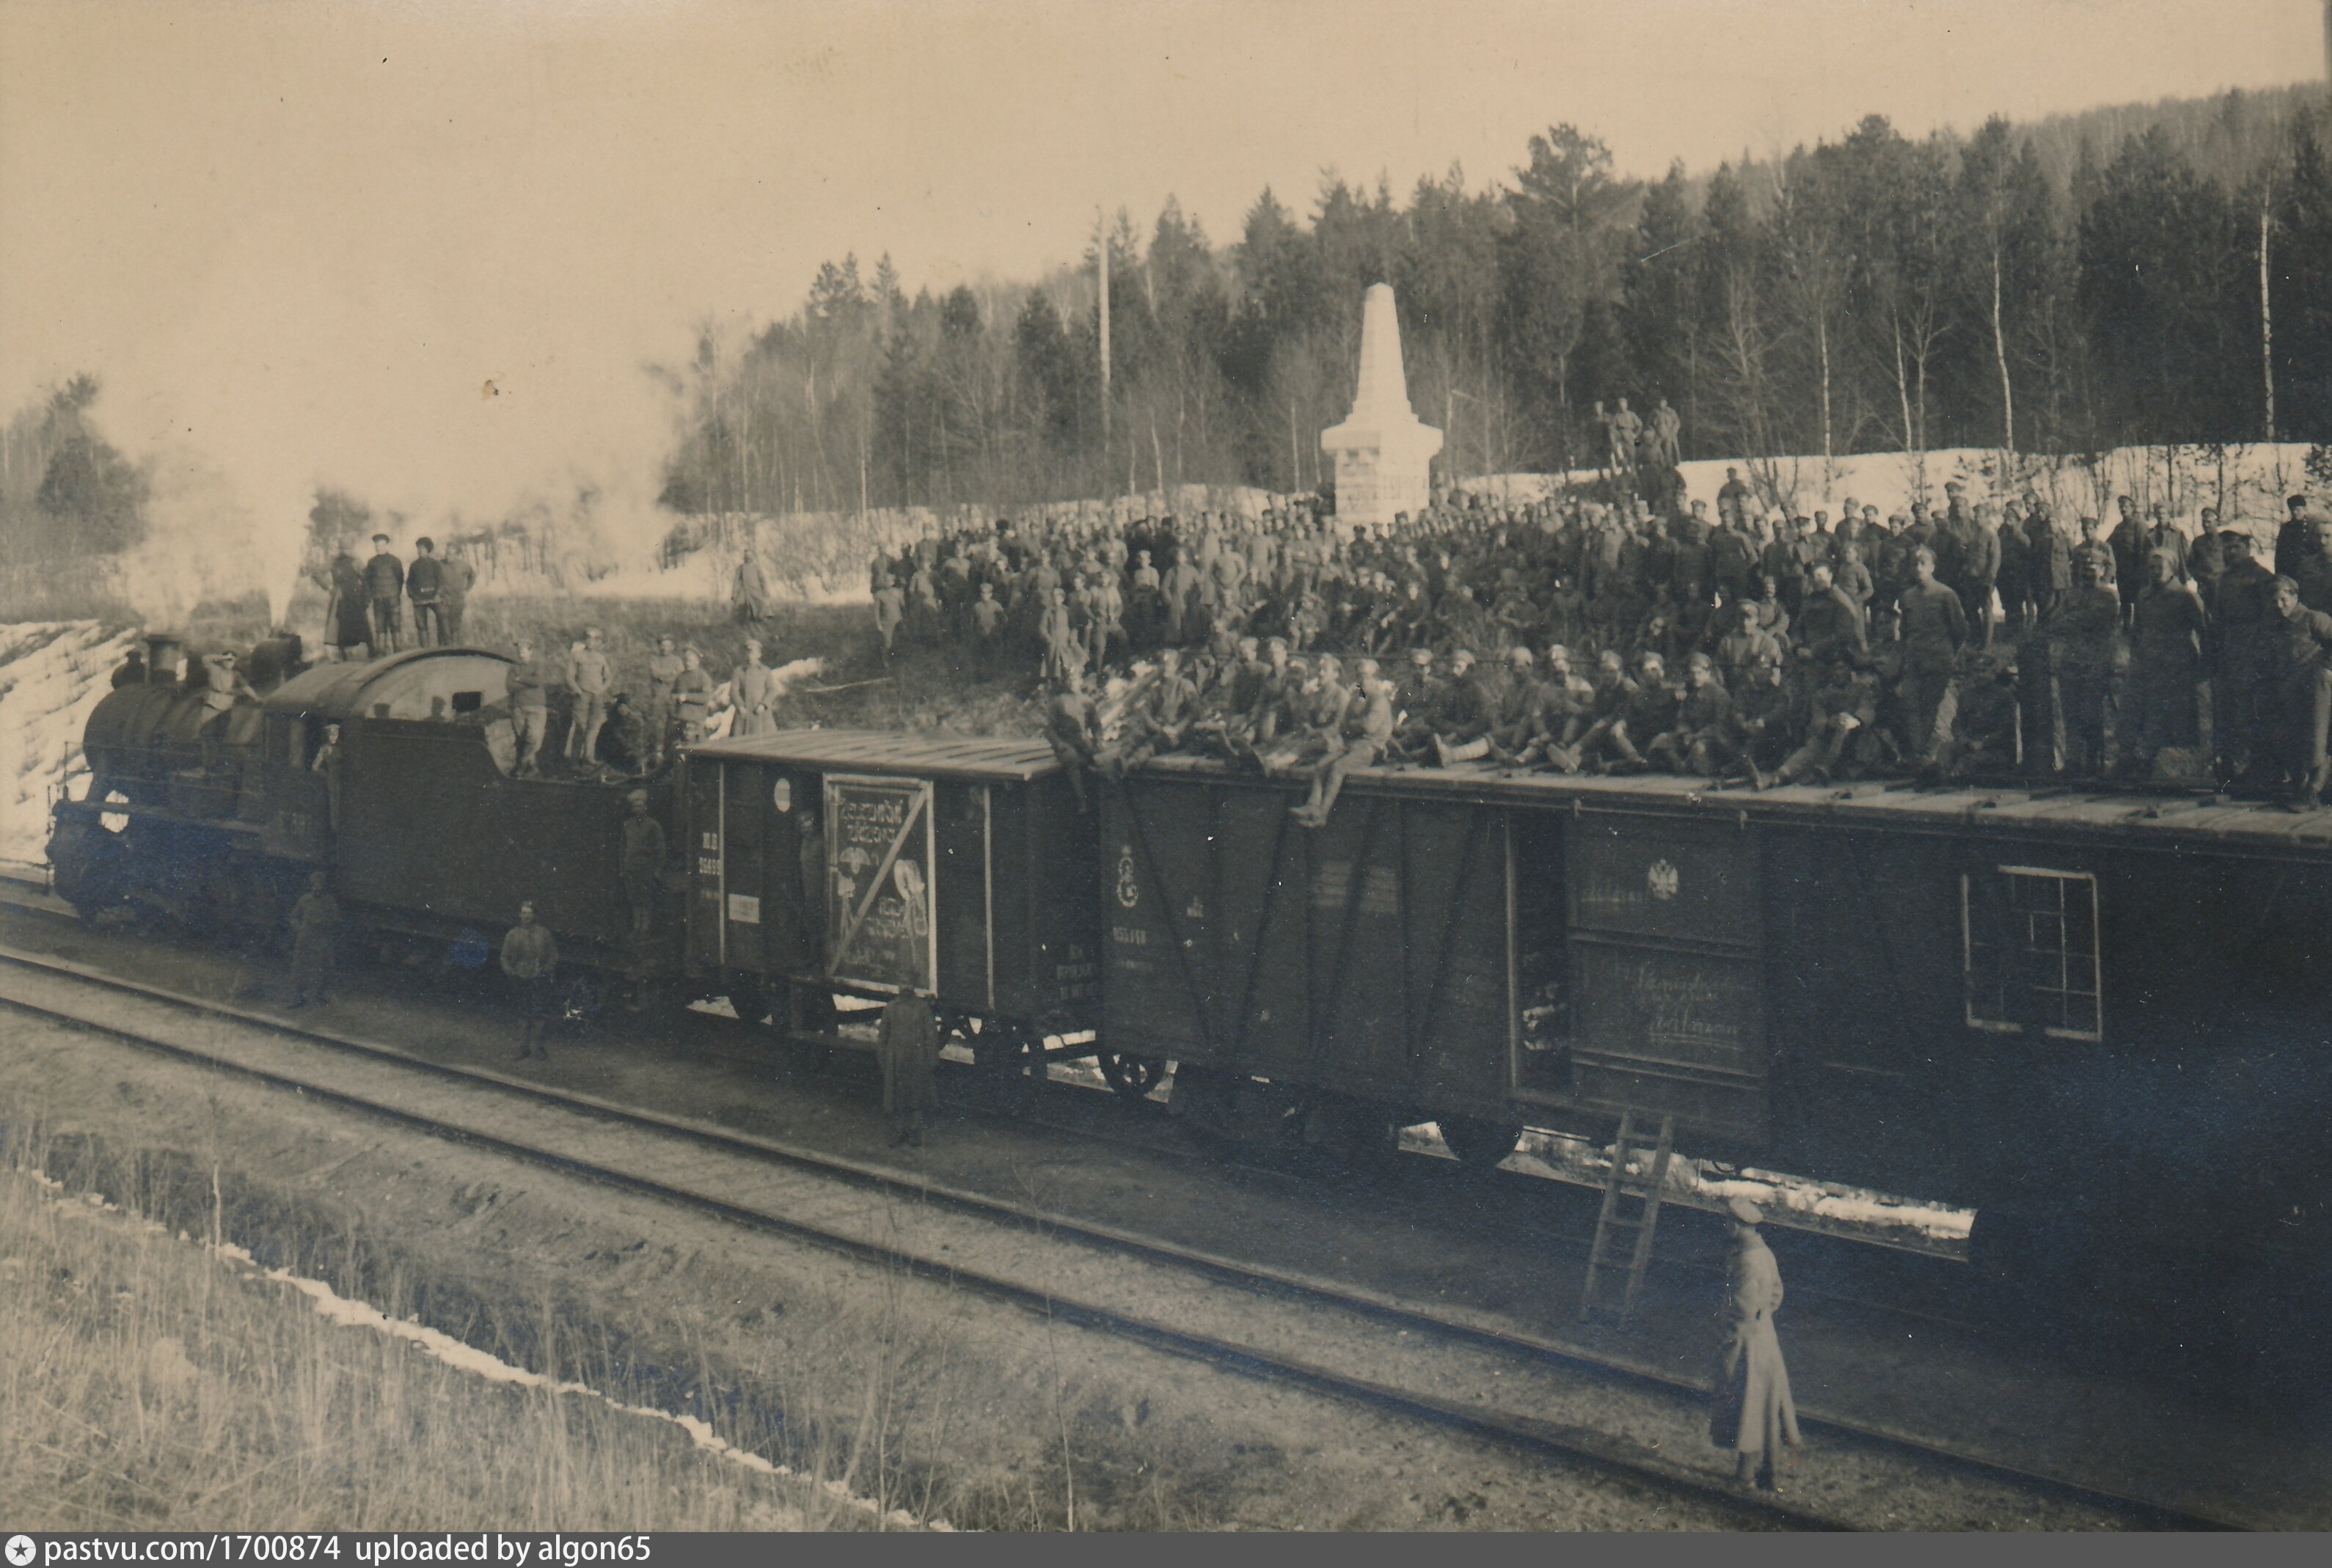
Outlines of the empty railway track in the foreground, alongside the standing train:
<svg viewBox="0 0 2332 1568">
<path fill-rule="evenodd" d="M 1546 1400 L 1532 1398 L 1532 1391 L 1562 1384 L 1565 1396 L 1574 1405 L 1590 1410 L 1609 1403 L 1642 1405 L 1649 1400 L 1651 1405 L 1665 1405 L 1670 1419 L 1677 1407 L 1684 1407 L 1698 1421 L 1698 1405 L 1705 1398 L 1698 1384 L 1597 1356 L 1576 1344 L 1555 1344 L 1509 1328 L 1425 1312 L 1411 1302 L 1353 1288 L 1334 1279 L 1304 1277 L 1194 1251 L 991 1193 L 963 1191 L 912 1172 L 616 1104 L 485 1067 L 434 1062 L 382 1041 L 357 1039 L 252 1009 L 126 981 L 56 958 L 0 946 L 0 974 L 14 979 L 14 983 L 0 981 L 0 1007 L 21 1013 L 93 1030 L 159 1055 L 196 1062 L 273 1088 L 289 1088 L 436 1137 L 459 1139 L 532 1165 L 562 1170 L 662 1202 L 676 1202 L 742 1228 L 826 1246 L 865 1263 L 914 1272 L 951 1288 L 977 1291 L 993 1300 L 1168 1354 L 1199 1358 L 1250 1377 L 1304 1386 L 1518 1452 L 1583 1463 L 1674 1493 L 1719 1500 L 1744 1519 L 1772 1526 L 1866 1528 L 1882 1519 L 1873 1503 L 1889 1496 L 1889 1486 L 1945 1484 L 1973 1491 L 1975 1496 L 2043 1500 L 2061 1512 L 2068 1524 L 2194 1531 L 2243 1528 L 2236 1521 L 2122 1496 L 2078 1479 L 2038 1475 L 2013 1463 L 1926 1440 L 1917 1433 L 1810 1410 L 1800 1410 L 1800 1424 L 1810 1438 L 1824 1440 L 1826 1454 L 1852 1452 L 1856 1463 L 1868 1472 L 1861 1493 L 1842 1500 L 1807 1498 L 1798 1491 L 1784 1496 L 1747 1493 L 1735 1489 L 1728 1472 L 1714 1465 L 1714 1454 L 1702 1465 L 1691 1458 L 1663 1454 L 1658 1442 L 1646 1445 L 1639 1438 L 1604 1431 L 1600 1424 L 1586 1419 L 1553 1421 L 1513 1410 L 1511 1405 L 1518 1403 L 1546 1407 Z M 112 1004 L 114 1018 L 107 1016 L 105 1007 L 91 1007 L 100 1000 Z M 131 1011 L 191 1018 L 215 1030 L 238 1030 L 245 1037 L 245 1046 L 268 1041 L 289 1046 L 289 1051 L 268 1051 L 266 1046 L 259 1051 L 238 1051 L 217 1041 L 201 1044 L 170 1037 L 173 1030 L 156 1027 L 152 1018 L 142 1025 L 121 1020 L 124 1002 L 131 1004 Z M 364 1065 L 366 1074 L 361 1076 L 371 1086 L 357 1086 L 347 1072 L 317 1072 L 315 1067 L 324 1060 L 319 1051 L 329 1051 L 343 1067 Z M 445 1093 L 431 1095 L 422 1086 L 455 1093 L 452 1097 Z M 431 1104 L 431 1100 L 445 1104 Z M 492 1114 L 494 1107 L 504 1114 Z M 513 1109 L 532 1111 L 532 1116 L 511 1116 Z M 562 1139 L 557 1137 L 557 1123 L 543 1121 L 546 1114 L 564 1118 L 569 1132 L 576 1130 L 578 1118 L 581 1123 L 597 1123 L 602 1128 L 616 1125 L 641 1139 L 751 1160 L 760 1170 L 786 1172 L 795 1179 L 823 1184 L 826 1188 L 842 1188 L 861 1200 L 872 1195 L 881 1200 L 886 1221 L 877 1228 L 868 1228 L 865 1223 L 854 1226 L 844 1219 L 844 1212 L 854 1205 L 835 1205 L 833 1200 L 823 1205 L 746 1202 L 735 1195 L 735 1188 L 723 1193 L 716 1184 L 702 1179 L 679 1179 L 669 1170 L 655 1170 L 653 1160 L 618 1163 L 604 1153 L 583 1153 L 581 1149 L 588 1144 L 604 1149 L 606 1139 Z M 525 1121 L 532 1121 L 539 1135 L 525 1135 L 518 1125 Z M 821 1216 L 821 1207 L 830 1209 L 830 1214 Z M 856 1207 L 863 1209 L 865 1205 Z M 914 1226 L 902 1230 L 902 1214 L 921 1216 L 921 1221 L 930 1223 L 923 1223 L 923 1232 L 914 1235 Z M 1017 1256 L 1021 1263 L 1033 1263 L 1033 1267 L 965 1267 L 958 1260 L 940 1256 L 947 1246 L 930 1242 L 949 1223 L 958 1230 L 972 1223 L 998 1235 L 1019 1237 L 1017 1244 L 1003 1251 L 1007 1258 Z M 1033 1260 L 1028 1256 L 1031 1244 L 1049 1249 L 1047 1260 Z M 1082 1258 L 1070 1253 L 1080 1253 Z M 1063 1258 L 1068 1260 L 1063 1263 Z M 1077 1288 L 1080 1281 L 1073 1279 L 1070 1288 L 1063 1291 L 1063 1270 L 1070 1277 L 1082 1274 L 1084 1288 Z M 1129 1270 L 1143 1279 L 1122 1281 L 1119 1277 Z M 1231 1286 L 1231 1291 L 1224 1291 L 1224 1286 Z M 1180 1298 L 1185 1305 L 1203 1309 L 1187 1309 L 1168 1321 L 1157 1309 L 1140 1309 L 1138 1302 L 1145 1288 L 1152 1302 L 1164 1291 L 1168 1300 Z M 1290 1309 L 1304 1316 L 1311 1323 L 1311 1337 L 1290 1335 L 1287 1323 L 1276 1321 L 1266 1312 L 1266 1305 L 1280 1319 L 1290 1316 Z M 1320 1335 L 1322 1314 L 1350 1326 L 1353 1333 Z M 1369 1368 L 1355 1365 L 1350 1356 L 1339 1365 L 1334 1354 L 1346 1349 L 1346 1340 L 1397 1342 L 1404 1347 L 1423 1342 L 1434 1347 L 1439 1356 L 1460 1358 L 1476 1375 L 1488 1372 L 1488 1377 L 1504 1379 L 1511 1372 L 1513 1382 L 1504 1384 L 1497 1400 L 1453 1398 L 1430 1386 L 1397 1386 L 1371 1377 Z M 1311 1354 L 1313 1349 L 1327 1349 L 1332 1358 L 1322 1361 Z M 1360 1361 L 1364 1363 L 1367 1358 L 1367 1347 L 1360 1347 Z M 1413 1384 L 1430 1382 L 1413 1379 Z"/>
</svg>

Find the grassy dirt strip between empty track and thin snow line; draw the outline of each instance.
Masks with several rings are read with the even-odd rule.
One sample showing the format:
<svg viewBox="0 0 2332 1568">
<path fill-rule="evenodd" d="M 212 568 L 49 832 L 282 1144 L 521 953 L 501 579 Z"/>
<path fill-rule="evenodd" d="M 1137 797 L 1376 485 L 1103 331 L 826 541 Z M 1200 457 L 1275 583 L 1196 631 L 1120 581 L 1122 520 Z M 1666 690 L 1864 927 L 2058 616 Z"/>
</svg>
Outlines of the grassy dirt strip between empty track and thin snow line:
<svg viewBox="0 0 2332 1568">
<path fill-rule="evenodd" d="M 16 1149 L 515 1365 L 977 1528 L 1723 1528 L 541 1167 L 7 1020 Z M 212 1198 L 217 1191 L 217 1198 Z M 492 1524 L 492 1521 L 478 1521 Z"/>
</svg>

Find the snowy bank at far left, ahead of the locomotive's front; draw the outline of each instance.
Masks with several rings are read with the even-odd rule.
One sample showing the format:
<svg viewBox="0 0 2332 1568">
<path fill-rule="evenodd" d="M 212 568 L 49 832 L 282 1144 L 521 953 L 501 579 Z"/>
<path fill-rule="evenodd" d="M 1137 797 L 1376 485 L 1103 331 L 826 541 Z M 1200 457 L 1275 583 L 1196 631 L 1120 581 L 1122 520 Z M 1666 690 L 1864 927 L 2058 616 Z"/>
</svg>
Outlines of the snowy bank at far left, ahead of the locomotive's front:
<svg viewBox="0 0 2332 1568">
<path fill-rule="evenodd" d="M 49 860 L 49 804 L 82 774 L 82 729 L 135 643 L 93 620 L 0 624 L 0 862 Z"/>
</svg>

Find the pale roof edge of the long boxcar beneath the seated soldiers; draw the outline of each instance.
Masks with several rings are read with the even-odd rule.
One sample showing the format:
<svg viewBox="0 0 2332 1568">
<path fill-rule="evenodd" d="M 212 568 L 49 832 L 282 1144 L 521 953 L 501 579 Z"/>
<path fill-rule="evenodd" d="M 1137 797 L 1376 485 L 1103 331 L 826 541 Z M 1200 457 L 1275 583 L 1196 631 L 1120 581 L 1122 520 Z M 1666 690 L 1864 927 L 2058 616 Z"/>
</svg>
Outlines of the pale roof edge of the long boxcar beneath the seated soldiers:
<svg viewBox="0 0 2332 1568">
<path fill-rule="evenodd" d="M 1159 757 L 1157 774 L 1229 774 L 1203 757 Z M 1252 776 L 1248 776 L 1252 778 Z M 2064 839 L 2108 839 L 2145 848 L 2239 848 L 2285 857 L 2332 860 L 2332 808 L 2283 811 L 2260 801 L 2211 794 L 2134 794 L 2082 787 L 1978 785 L 1784 785 L 1777 790 L 1716 787 L 1707 778 L 1637 774 L 1628 778 L 1562 778 L 1516 774 L 1488 764 L 1374 767 L 1353 776 L 1395 794 L 1476 799 L 1558 811 L 1674 811 L 1737 820 L 1840 827 L 1898 827 L 1905 832 L 2013 832 Z"/>
</svg>

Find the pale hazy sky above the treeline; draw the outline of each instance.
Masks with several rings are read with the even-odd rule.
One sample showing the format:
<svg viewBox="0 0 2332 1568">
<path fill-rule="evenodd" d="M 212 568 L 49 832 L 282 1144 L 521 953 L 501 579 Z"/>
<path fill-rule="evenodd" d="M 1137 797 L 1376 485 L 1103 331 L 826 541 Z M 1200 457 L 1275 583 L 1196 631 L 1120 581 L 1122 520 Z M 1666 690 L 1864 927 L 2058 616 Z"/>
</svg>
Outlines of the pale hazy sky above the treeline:
<svg viewBox="0 0 2332 1568">
<path fill-rule="evenodd" d="M 1656 175 L 2323 58 L 2318 0 L 0 0 L 0 417 L 89 368 L 254 508 L 639 503 L 639 366 L 851 249 L 1026 277 L 1096 203 L 1220 242 L 1264 184 L 1481 184 L 1553 121 Z"/>
</svg>

